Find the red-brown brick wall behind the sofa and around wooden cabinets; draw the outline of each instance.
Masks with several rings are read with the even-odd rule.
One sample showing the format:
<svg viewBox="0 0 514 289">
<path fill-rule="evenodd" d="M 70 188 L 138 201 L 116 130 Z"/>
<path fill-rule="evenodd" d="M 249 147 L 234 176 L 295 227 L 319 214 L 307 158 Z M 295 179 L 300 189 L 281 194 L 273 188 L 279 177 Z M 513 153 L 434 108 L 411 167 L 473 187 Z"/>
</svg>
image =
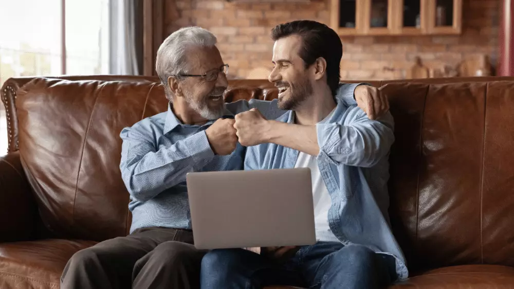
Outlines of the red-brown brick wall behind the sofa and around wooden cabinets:
<svg viewBox="0 0 514 289">
<path fill-rule="evenodd" d="M 174 0 L 165 12 L 166 32 L 197 25 L 218 37 L 232 78 L 247 78 L 254 68 L 271 68 L 269 31 L 277 24 L 310 19 L 329 24 L 328 0 L 308 4 L 232 4 L 224 0 Z M 456 36 L 344 37 L 343 79 L 399 79 L 419 56 L 426 66 L 455 66 L 486 53 L 497 54 L 500 0 L 463 1 L 463 33 Z M 176 7 L 173 7 L 175 5 Z M 178 11 L 178 17 L 176 17 Z"/>
</svg>

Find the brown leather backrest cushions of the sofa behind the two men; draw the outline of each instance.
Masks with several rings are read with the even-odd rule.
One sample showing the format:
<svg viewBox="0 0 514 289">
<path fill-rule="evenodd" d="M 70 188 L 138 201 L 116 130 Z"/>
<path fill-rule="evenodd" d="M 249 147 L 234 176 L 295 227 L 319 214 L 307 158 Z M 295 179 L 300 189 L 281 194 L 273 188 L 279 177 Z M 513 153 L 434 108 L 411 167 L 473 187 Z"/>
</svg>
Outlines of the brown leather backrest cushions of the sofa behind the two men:
<svg viewBox="0 0 514 289">
<path fill-rule="evenodd" d="M 276 97 L 254 82 L 240 81 L 227 100 Z M 514 266 L 514 81 L 393 81 L 382 89 L 396 123 L 391 223 L 411 270 Z M 151 80 L 39 78 L 18 89 L 19 151 L 44 224 L 66 238 L 126 234 L 119 132 L 166 106 Z"/>
</svg>

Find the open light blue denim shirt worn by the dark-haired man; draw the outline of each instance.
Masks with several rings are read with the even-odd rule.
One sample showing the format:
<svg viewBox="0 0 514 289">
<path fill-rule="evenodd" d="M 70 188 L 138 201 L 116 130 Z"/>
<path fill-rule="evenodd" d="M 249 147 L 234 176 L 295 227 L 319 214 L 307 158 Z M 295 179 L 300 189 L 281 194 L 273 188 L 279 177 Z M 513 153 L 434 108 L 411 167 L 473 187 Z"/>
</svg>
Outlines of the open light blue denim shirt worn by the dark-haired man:
<svg viewBox="0 0 514 289">
<path fill-rule="evenodd" d="M 405 257 L 390 228 L 389 150 L 394 141 L 390 113 L 370 120 L 359 107 L 339 101 L 336 109 L 316 125 L 320 147 L 318 166 L 332 198 L 328 225 L 343 244 L 365 245 L 392 255 L 400 280 L 408 277 Z M 289 111 L 277 118 L 293 123 Z M 248 147 L 245 170 L 295 167 L 298 151 L 274 143 Z"/>
</svg>

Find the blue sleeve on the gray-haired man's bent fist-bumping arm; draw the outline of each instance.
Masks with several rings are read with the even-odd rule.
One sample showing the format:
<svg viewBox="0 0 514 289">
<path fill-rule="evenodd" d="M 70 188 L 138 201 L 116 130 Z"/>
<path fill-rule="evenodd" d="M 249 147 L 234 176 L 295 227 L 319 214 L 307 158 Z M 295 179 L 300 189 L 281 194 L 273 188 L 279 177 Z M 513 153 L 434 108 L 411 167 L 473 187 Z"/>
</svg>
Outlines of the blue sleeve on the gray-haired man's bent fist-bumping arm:
<svg viewBox="0 0 514 289">
<path fill-rule="evenodd" d="M 120 136 L 123 182 L 139 201 L 148 201 L 185 181 L 187 173 L 199 171 L 214 157 L 205 131 L 160 149 L 150 136 L 131 128 L 123 129 Z"/>
</svg>

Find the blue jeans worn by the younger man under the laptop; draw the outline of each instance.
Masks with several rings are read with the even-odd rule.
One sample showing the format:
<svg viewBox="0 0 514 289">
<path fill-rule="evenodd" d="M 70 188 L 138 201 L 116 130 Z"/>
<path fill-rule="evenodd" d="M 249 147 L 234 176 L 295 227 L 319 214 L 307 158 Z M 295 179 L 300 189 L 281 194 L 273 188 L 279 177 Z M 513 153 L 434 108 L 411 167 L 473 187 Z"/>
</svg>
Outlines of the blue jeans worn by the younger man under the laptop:
<svg viewBox="0 0 514 289">
<path fill-rule="evenodd" d="M 290 285 L 305 288 L 381 288 L 395 281 L 394 258 L 361 245 L 318 242 L 279 263 L 244 249 L 212 250 L 201 261 L 202 289 Z"/>
</svg>

